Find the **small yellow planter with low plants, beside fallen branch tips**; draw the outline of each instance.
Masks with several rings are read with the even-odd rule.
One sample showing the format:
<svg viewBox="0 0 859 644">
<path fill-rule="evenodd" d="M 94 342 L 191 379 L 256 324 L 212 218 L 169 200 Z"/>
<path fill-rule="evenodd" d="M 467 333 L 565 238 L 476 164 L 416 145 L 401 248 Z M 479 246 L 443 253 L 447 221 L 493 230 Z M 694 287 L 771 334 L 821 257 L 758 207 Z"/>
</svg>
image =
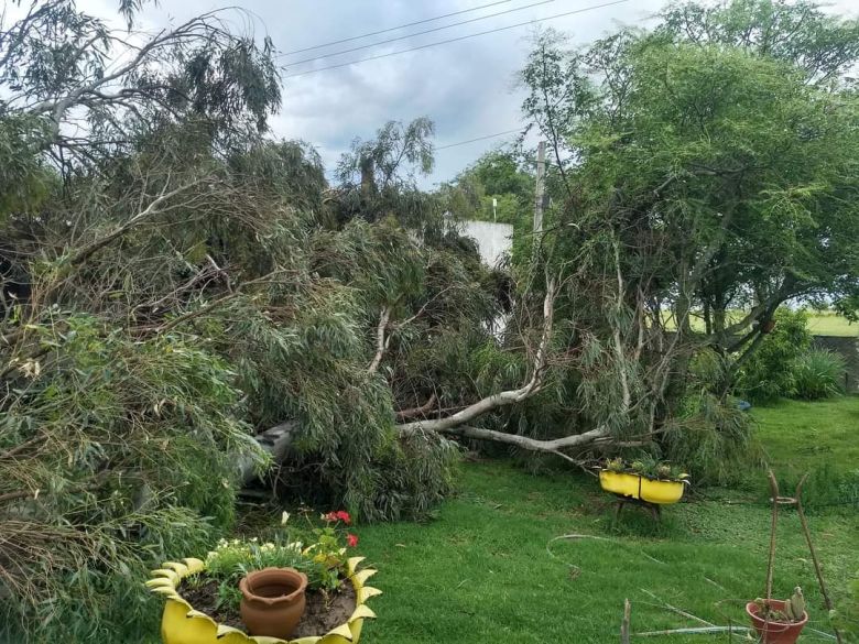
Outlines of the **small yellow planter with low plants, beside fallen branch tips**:
<svg viewBox="0 0 859 644">
<path fill-rule="evenodd" d="M 607 492 L 657 504 L 679 501 L 688 478 L 679 467 L 652 457 L 631 463 L 611 459 L 599 472 L 599 483 Z"/>
</svg>

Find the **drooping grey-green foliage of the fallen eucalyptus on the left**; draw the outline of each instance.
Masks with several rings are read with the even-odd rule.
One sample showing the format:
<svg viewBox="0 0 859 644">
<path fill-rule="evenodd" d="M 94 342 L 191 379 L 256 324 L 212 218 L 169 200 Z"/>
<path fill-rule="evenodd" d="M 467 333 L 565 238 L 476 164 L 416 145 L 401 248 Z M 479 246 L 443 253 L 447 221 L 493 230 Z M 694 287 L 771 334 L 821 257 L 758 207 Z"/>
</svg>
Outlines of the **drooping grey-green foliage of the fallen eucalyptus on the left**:
<svg viewBox="0 0 859 644">
<path fill-rule="evenodd" d="M 139 42 L 70 1 L 26 11 L 0 30 L 2 636 L 154 632 L 144 570 L 230 530 L 237 463 L 265 472 L 253 437 L 285 421 L 282 471 L 314 499 L 425 515 L 459 449 L 399 437 L 398 412 L 469 394 L 444 357 L 497 312 L 406 170 L 431 164 L 432 123 L 356 146 L 378 164 L 366 198 L 333 189 L 311 146 L 262 137 L 270 43 L 217 13 Z M 127 68 L 120 41 L 140 47 Z"/>
</svg>

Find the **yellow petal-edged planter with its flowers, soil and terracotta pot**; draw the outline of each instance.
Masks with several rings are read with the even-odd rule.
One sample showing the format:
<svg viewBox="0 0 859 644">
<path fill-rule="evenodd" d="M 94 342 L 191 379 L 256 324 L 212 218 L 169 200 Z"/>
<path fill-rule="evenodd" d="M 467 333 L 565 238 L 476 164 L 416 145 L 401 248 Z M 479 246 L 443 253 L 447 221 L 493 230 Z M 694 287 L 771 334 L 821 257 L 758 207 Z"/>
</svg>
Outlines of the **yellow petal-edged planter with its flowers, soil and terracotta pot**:
<svg viewBox="0 0 859 644">
<path fill-rule="evenodd" d="M 348 556 L 357 537 L 347 513 L 323 520 L 272 542 L 221 541 L 205 560 L 153 571 L 146 585 L 167 598 L 164 644 L 357 643 L 363 620 L 376 616 L 366 601 L 380 591 L 365 586 L 376 571 Z"/>
</svg>

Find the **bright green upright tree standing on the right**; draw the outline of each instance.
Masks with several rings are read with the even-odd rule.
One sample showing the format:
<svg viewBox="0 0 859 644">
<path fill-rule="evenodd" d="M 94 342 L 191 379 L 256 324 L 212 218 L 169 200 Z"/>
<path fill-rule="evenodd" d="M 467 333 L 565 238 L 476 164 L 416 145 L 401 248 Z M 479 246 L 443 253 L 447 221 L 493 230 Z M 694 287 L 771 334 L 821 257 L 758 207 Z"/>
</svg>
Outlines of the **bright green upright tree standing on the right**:
<svg viewBox="0 0 859 644">
<path fill-rule="evenodd" d="M 548 262 L 577 266 L 556 310 L 579 335 L 579 430 L 601 418 L 600 439 L 655 438 L 688 457 L 688 443 L 727 447 L 737 425 L 714 410 L 780 304 L 853 313 L 859 138 L 844 72 L 859 26 L 771 0 L 663 19 L 583 51 L 542 36 L 523 107 L 558 165 Z M 719 369 L 702 382 L 707 356 Z M 702 416 L 716 419 L 709 441 L 683 430 Z"/>
</svg>

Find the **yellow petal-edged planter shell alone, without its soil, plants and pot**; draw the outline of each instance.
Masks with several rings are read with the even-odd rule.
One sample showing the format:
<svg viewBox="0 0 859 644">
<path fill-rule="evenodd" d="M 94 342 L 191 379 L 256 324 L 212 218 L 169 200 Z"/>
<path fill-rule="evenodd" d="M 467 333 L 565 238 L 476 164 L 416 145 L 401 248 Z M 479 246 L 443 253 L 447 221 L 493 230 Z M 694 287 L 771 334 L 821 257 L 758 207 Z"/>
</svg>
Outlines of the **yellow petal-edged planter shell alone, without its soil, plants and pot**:
<svg viewBox="0 0 859 644">
<path fill-rule="evenodd" d="M 324 635 L 300 637 L 289 642 L 279 637 L 247 635 L 232 626 L 218 624 L 207 614 L 194 610 L 194 607 L 180 594 L 180 583 L 185 577 L 205 570 L 206 564 L 199 559 L 168 561 L 152 571 L 152 578 L 146 581 L 146 586 L 153 592 L 166 596 L 167 599 L 161 619 L 161 638 L 164 644 L 358 644 L 363 621 L 376 616 L 366 602 L 382 592 L 366 586 L 376 570 L 370 568 L 358 570 L 358 565 L 362 560 L 363 557 L 352 557 L 347 563 L 347 572 L 355 588 L 356 600 L 355 611 L 349 620 Z"/>
</svg>

